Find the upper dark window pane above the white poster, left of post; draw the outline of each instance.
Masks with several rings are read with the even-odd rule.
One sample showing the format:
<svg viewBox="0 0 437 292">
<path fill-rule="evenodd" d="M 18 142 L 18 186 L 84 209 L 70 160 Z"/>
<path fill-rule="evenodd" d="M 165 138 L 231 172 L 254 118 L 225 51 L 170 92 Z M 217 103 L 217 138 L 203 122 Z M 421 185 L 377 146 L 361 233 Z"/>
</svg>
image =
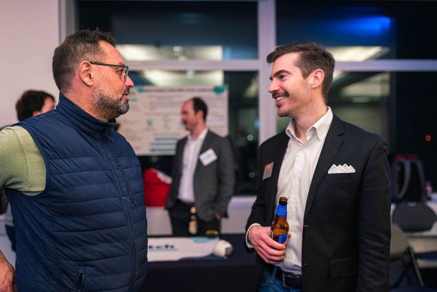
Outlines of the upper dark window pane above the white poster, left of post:
<svg viewBox="0 0 437 292">
<path fill-rule="evenodd" d="M 256 2 L 79 1 L 78 16 L 80 28 L 110 31 L 118 44 L 144 52 L 128 60 L 258 56 Z"/>
</svg>

